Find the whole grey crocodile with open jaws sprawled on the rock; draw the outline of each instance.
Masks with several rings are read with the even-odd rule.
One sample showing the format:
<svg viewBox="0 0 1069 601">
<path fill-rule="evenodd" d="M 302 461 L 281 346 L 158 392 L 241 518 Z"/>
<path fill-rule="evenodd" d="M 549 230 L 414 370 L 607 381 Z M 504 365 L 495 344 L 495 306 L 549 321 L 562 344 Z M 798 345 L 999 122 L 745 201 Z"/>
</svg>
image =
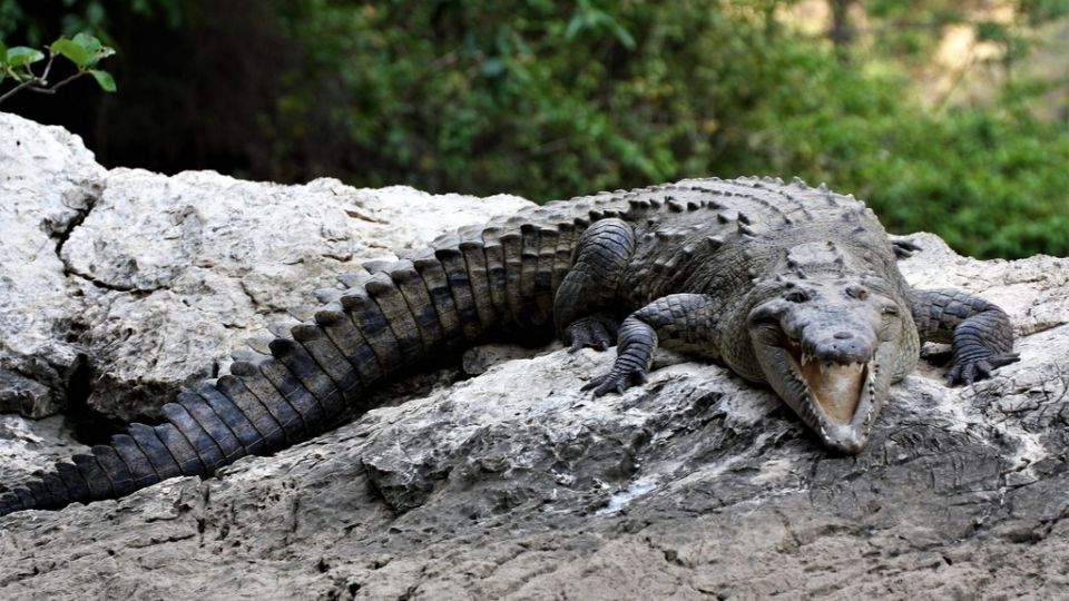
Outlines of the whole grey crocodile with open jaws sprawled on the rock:
<svg viewBox="0 0 1069 601">
<path fill-rule="evenodd" d="M 766 385 L 831 452 L 863 451 L 889 387 L 922 341 L 951 344 L 950 384 L 1017 359 L 1007 314 L 909 286 L 864 203 L 800 179 L 689 179 L 531 207 L 373 262 L 316 292 L 314 317 L 235 352 L 157 425 L 57 463 L 0 496 L 0 515 L 116 499 L 213 475 L 328 428 L 366 392 L 468 346 L 541 332 L 606 351 L 595 396 L 646 382 L 655 348 Z"/>
</svg>

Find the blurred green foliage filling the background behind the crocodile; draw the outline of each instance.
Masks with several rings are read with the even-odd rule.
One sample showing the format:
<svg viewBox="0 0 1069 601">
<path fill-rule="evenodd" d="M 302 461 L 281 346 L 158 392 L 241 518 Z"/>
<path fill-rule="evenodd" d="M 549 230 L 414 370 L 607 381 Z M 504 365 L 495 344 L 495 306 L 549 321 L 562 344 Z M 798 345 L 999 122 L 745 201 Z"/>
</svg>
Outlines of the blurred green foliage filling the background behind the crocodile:
<svg viewBox="0 0 1069 601">
<path fill-rule="evenodd" d="M 909 69 L 845 65 L 785 29 L 775 14 L 790 3 L 287 2 L 282 23 L 303 65 L 265 121 L 276 165 L 293 170 L 276 176 L 314 175 L 312 162 L 360 185 L 549 199 L 798 175 L 968 254 L 1069 253 L 1065 125 L 999 107 L 924 109 Z M 967 21 L 961 8 L 866 3 L 882 23 L 910 22 L 874 51 L 920 60 L 932 32 Z M 998 43 L 1018 36 L 974 27 Z"/>
</svg>

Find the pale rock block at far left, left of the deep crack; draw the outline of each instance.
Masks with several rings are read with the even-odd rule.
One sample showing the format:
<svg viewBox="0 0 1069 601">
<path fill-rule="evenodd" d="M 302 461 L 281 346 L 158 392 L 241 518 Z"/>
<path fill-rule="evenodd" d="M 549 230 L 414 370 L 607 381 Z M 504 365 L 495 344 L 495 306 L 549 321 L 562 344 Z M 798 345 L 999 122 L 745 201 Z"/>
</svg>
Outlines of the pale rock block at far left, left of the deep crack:
<svg viewBox="0 0 1069 601">
<path fill-rule="evenodd" d="M 0 112 L 0 412 L 66 406 L 82 305 L 58 250 L 104 176 L 78 136 Z"/>
</svg>

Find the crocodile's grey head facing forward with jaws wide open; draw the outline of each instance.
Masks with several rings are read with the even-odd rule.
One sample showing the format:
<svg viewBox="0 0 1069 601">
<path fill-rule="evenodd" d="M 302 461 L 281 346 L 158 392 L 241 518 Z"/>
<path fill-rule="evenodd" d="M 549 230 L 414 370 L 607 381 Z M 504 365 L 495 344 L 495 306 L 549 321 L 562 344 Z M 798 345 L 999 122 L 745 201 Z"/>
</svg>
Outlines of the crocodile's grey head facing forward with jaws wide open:
<svg viewBox="0 0 1069 601">
<path fill-rule="evenodd" d="M 859 453 L 906 347 L 909 311 L 871 274 L 793 267 L 747 315 L 762 378 L 827 447 Z"/>
</svg>

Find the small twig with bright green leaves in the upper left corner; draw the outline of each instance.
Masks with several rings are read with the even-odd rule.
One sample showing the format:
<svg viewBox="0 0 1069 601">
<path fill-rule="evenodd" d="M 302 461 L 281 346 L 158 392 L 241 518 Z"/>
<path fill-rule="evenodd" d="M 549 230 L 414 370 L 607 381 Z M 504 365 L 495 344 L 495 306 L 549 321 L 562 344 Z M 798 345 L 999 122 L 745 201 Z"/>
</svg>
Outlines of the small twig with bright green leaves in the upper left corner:
<svg viewBox="0 0 1069 601">
<path fill-rule="evenodd" d="M 0 83 L 6 78 L 17 82 L 13 88 L 0 95 L 0 102 L 22 90 L 55 93 L 59 88 L 85 75 L 92 77 L 104 91 L 114 92 L 116 85 L 111 75 L 94 68 L 101 59 L 114 53 L 115 49 L 104 46 L 100 40 L 86 33 L 78 33 L 72 39 L 61 37 L 49 45 L 48 62 L 38 75 L 33 72 L 32 66 L 45 60 L 45 52 L 26 46 L 8 48 L 3 41 L 0 41 Z M 56 57 L 63 57 L 72 62 L 76 71 L 66 79 L 52 83 L 48 78 Z"/>
</svg>

